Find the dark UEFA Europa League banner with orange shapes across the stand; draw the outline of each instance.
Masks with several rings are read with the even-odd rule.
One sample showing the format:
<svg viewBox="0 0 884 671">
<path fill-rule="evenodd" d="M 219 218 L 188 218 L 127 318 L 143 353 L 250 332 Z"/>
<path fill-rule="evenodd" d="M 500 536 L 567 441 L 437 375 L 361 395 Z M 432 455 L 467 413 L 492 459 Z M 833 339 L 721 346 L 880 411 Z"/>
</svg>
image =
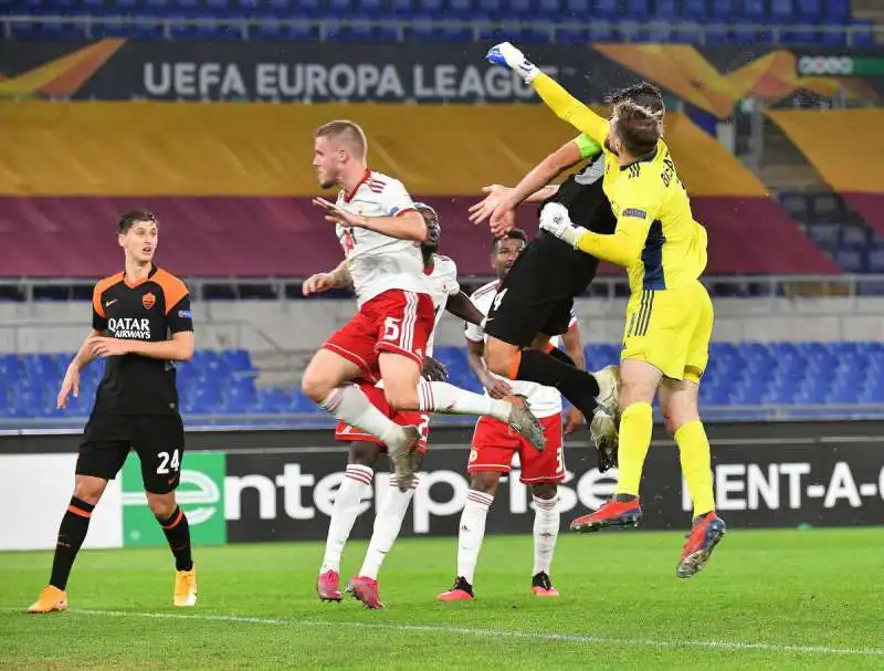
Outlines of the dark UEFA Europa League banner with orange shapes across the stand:
<svg viewBox="0 0 884 671">
<path fill-rule="evenodd" d="M 0 41 L 0 99 L 388 103 L 537 102 L 530 86 L 485 61 L 487 42 Z M 727 118 L 744 98 L 823 97 L 843 88 L 875 103 L 884 52 L 845 55 L 754 45 L 529 44 L 543 70 L 601 102 L 648 80 L 697 109 Z M 876 63 L 878 65 L 876 65 Z M 34 76 L 46 67 L 55 77 Z M 796 76 L 798 75 L 798 77 Z M 814 81 L 815 77 L 815 81 Z M 829 80 L 820 83 L 820 77 Z M 831 80 L 843 78 L 842 87 Z M 862 85 L 854 81 L 865 77 Z M 770 80 L 779 82 L 771 87 Z"/>
</svg>

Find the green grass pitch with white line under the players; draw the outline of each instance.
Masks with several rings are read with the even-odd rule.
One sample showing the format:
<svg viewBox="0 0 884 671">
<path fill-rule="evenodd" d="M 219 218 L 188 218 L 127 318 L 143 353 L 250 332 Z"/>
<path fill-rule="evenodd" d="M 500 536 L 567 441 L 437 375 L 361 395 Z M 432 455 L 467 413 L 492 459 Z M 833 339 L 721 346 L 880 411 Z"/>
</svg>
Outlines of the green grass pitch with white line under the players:
<svg viewBox="0 0 884 671">
<path fill-rule="evenodd" d="M 24 609 L 51 554 L 0 554 L 0 668 L 884 668 L 884 530 L 730 531 L 688 580 L 675 577 L 683 541 L 562 533 L 562 597 L 537 599 L 532 538 L 492 536 L 477 600 L 436 604 L 456 541 L 403 539 L 381 573 L 383 611 L 317 600 L 316 543 L 197 548 L 191 609 L 171 606 L 167 549 L 83 552 L 71 610 L 49 616 Z M 341 588 L 365 547 L 346 548 Z"/>
</svg>

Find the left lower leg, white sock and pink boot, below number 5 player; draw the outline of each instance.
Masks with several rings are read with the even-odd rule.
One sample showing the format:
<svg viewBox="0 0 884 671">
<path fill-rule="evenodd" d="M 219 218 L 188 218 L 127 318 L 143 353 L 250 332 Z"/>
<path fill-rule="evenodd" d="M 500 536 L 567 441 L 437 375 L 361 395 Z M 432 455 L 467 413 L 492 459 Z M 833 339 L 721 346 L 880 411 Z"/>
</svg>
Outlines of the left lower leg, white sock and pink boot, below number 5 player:
<svg viewBox="0 0 884 671">
<path fill-rule="evenodd" d="M 369 443 L 365 444 L 375 448 Z M 354 445 L 354 449 L 357 447 Z M 371 466 L 361 463 L 347 464 L 344 481 L 335 495 L 335 506 L 328 521 L 325 554 L 316 580 L 316 593 L 323 601 L 340 601 L 340 555 L 359 516 L 362 499 L 371 494 L 373 478 L 375 471 Z"/>
</svg>

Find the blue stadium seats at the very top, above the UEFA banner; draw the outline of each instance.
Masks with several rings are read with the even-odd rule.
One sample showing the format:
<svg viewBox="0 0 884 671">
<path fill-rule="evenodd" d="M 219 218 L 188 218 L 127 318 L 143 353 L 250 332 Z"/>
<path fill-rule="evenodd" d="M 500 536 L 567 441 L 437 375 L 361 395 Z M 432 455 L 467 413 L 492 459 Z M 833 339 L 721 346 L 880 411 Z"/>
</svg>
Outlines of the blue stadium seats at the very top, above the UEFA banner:
<svg viewBox="0 0 884 671">
<path fill-rule="evenodd" d="M 817 43 L 870 45 L 849 0 L 20 0 L 17 39 Z M 73 19 L 87 17 L 86 22 Z M 131 21 L 137 17 L 138 21 Z M 444 17 L 446 22 L 440 21 Z M 592 22 L 587 21 L 591 17 Z M 171 23 L 169 23 L 171 22 Z"/>
</svg>

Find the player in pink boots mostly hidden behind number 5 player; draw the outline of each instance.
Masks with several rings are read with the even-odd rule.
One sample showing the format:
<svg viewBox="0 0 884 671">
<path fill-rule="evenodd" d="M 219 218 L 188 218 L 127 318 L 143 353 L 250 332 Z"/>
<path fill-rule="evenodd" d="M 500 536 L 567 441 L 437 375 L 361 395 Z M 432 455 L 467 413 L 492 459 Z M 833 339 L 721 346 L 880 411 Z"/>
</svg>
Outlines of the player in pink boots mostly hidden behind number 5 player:
<svg viewBox="0 0 884 671">
<path fill-rule="evenodd" d="M 421 244 L 421 253 L 428 287 L 435 308 L 435 324 L 439 323 L 445 311 L 470 324 L 480 324 L 484 315 L 476 310 L 466 294 L 461 291 L 457 282 L 457 266 L 454 261 L 435 253 L 441 233 L 436 212 L 423 203 L 414 203 L 414 207 L 427 221 L 428 237 Z M 314 281 L 315 276 L 305 283 L 308 291 L 312 290 Z M 423 377 L 442 380 L 445 378 L 445 369 L 432 358 L 434 333 L 431 334 L 427 345 Z M 420 427 L 421 441 L 418 445 L 418 458 L 415 460 L 415 469 L 419 468 L 423 454 L 427 452 L 430 417 L 420 412 L 397 412 L 391 410 L 383 397 L 382 382 L 377 385 L 362 382 L 361 389 L 378 410 L 398 424 L 403 427 L 417 424 Z M 348 442 L 350 449 L 346 475 L 335 496 L 335 506 L 332 510 L 332 517 L 328 524 L 328 537 L 323 564 L 316 580 L 316 591 L 319 595 L 319 599 L 324 601 L 339 601 L 341 598 L 340 555 L 359 515 L 362 500 L 370 495 L 375 478 L 373 469 L 378 457 L 387 449 L 373 436 L 344 422 L 338 423 L 335 438 L 336 440 Z M 389 484 L 396 485 L 396 475 L 392 475 L 389 479 Z M 347 586 L 347 590 L 369 608 L 383 608 L 383 604 L 380 600 L 378 573 L 380 572 L 381 563 L 399 535 L 402 520 L 408 512 L 408 506 L 418 483 L 418 475 L 415 475 L 409 489 L 404 492 L 401 492 L 397 486 L 383 487 L 387 489 L 387 493 L 382 497 L 379 496 L 376 507 L 375 528 L 362 568 L 350 579 Z"/>
</svg>

